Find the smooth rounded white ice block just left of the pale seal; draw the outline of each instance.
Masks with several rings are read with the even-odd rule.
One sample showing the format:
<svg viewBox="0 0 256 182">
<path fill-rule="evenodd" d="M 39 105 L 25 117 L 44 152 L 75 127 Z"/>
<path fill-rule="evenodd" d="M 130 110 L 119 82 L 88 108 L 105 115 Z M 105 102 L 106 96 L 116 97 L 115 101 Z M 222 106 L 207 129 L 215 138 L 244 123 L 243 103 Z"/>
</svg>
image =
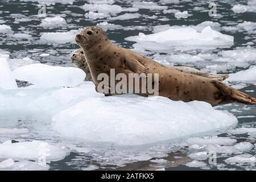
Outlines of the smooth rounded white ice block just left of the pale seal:
<svg viewBox="0 0 256 182">
<path fill-rule="evenodd" d="M 76 86 L 84 81 L 85 73 L 79 68 L 54 67 L 46 64 L 30 64 L 16 68 L 14 77 L 28 81 L 33 87 Z"/>
</svg>

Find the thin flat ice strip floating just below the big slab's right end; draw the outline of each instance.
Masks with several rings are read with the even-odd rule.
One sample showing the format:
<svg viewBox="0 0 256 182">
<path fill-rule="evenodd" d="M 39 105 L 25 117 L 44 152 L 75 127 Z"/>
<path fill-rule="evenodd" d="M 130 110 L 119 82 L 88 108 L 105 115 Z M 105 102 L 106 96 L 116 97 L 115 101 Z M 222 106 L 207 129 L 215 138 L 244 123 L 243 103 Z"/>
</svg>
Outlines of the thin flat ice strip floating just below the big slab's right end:
<svg viewBox="0 0 256 182">
<path fill-rule="evenodd" d="M 189 138 L 187 140 L 187 143 L 191 146 L 193 144 L 197 144 L 199 146 L 207 146 L 209 144 L 230 145 L 236 142 L 237 142 L 236 139 L 226 138 L 226 137 L 204 137 L 204 138 L 195 137 L 195 138 Z"/>
</svg>

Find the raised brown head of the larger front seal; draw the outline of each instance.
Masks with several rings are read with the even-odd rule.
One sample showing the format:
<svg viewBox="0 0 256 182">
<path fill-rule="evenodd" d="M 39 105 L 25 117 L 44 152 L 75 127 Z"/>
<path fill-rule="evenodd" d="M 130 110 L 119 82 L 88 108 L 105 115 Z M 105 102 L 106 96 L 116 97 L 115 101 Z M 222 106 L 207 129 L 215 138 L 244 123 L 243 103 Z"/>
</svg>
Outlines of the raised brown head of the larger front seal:
<svg viewBox="0 0 256 182">
<path fill-rule="evenodd" d="M 80 34 L 76 35 L 75 40 L 84 50 L 99 46 L 102 42 L 109 42 L 108 36 L 103 28 L 97 26 L 85 28 Z"/>
</svg>

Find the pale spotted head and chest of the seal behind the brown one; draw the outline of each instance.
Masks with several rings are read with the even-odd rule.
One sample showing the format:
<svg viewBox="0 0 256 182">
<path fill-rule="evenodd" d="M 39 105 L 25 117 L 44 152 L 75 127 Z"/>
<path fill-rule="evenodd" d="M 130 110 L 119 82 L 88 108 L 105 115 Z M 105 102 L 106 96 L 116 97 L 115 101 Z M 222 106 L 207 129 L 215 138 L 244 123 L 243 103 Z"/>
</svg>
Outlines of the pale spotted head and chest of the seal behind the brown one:
<svg viewBox="0 0 256 182">
<path fill-rule="evenodd" d="M 72 54 L 71 58 L 73 63 L 75 63 L 77 68 L 82 69 L 86 73 L 85 80 L 92 81 L 92 76 L 90 75 L 90 69 L 88 64 L 86 63 L 86 59 L 84 57 L 84 52 L 82 49 L 77 49 L 75 53 Z"/>
</svg>

